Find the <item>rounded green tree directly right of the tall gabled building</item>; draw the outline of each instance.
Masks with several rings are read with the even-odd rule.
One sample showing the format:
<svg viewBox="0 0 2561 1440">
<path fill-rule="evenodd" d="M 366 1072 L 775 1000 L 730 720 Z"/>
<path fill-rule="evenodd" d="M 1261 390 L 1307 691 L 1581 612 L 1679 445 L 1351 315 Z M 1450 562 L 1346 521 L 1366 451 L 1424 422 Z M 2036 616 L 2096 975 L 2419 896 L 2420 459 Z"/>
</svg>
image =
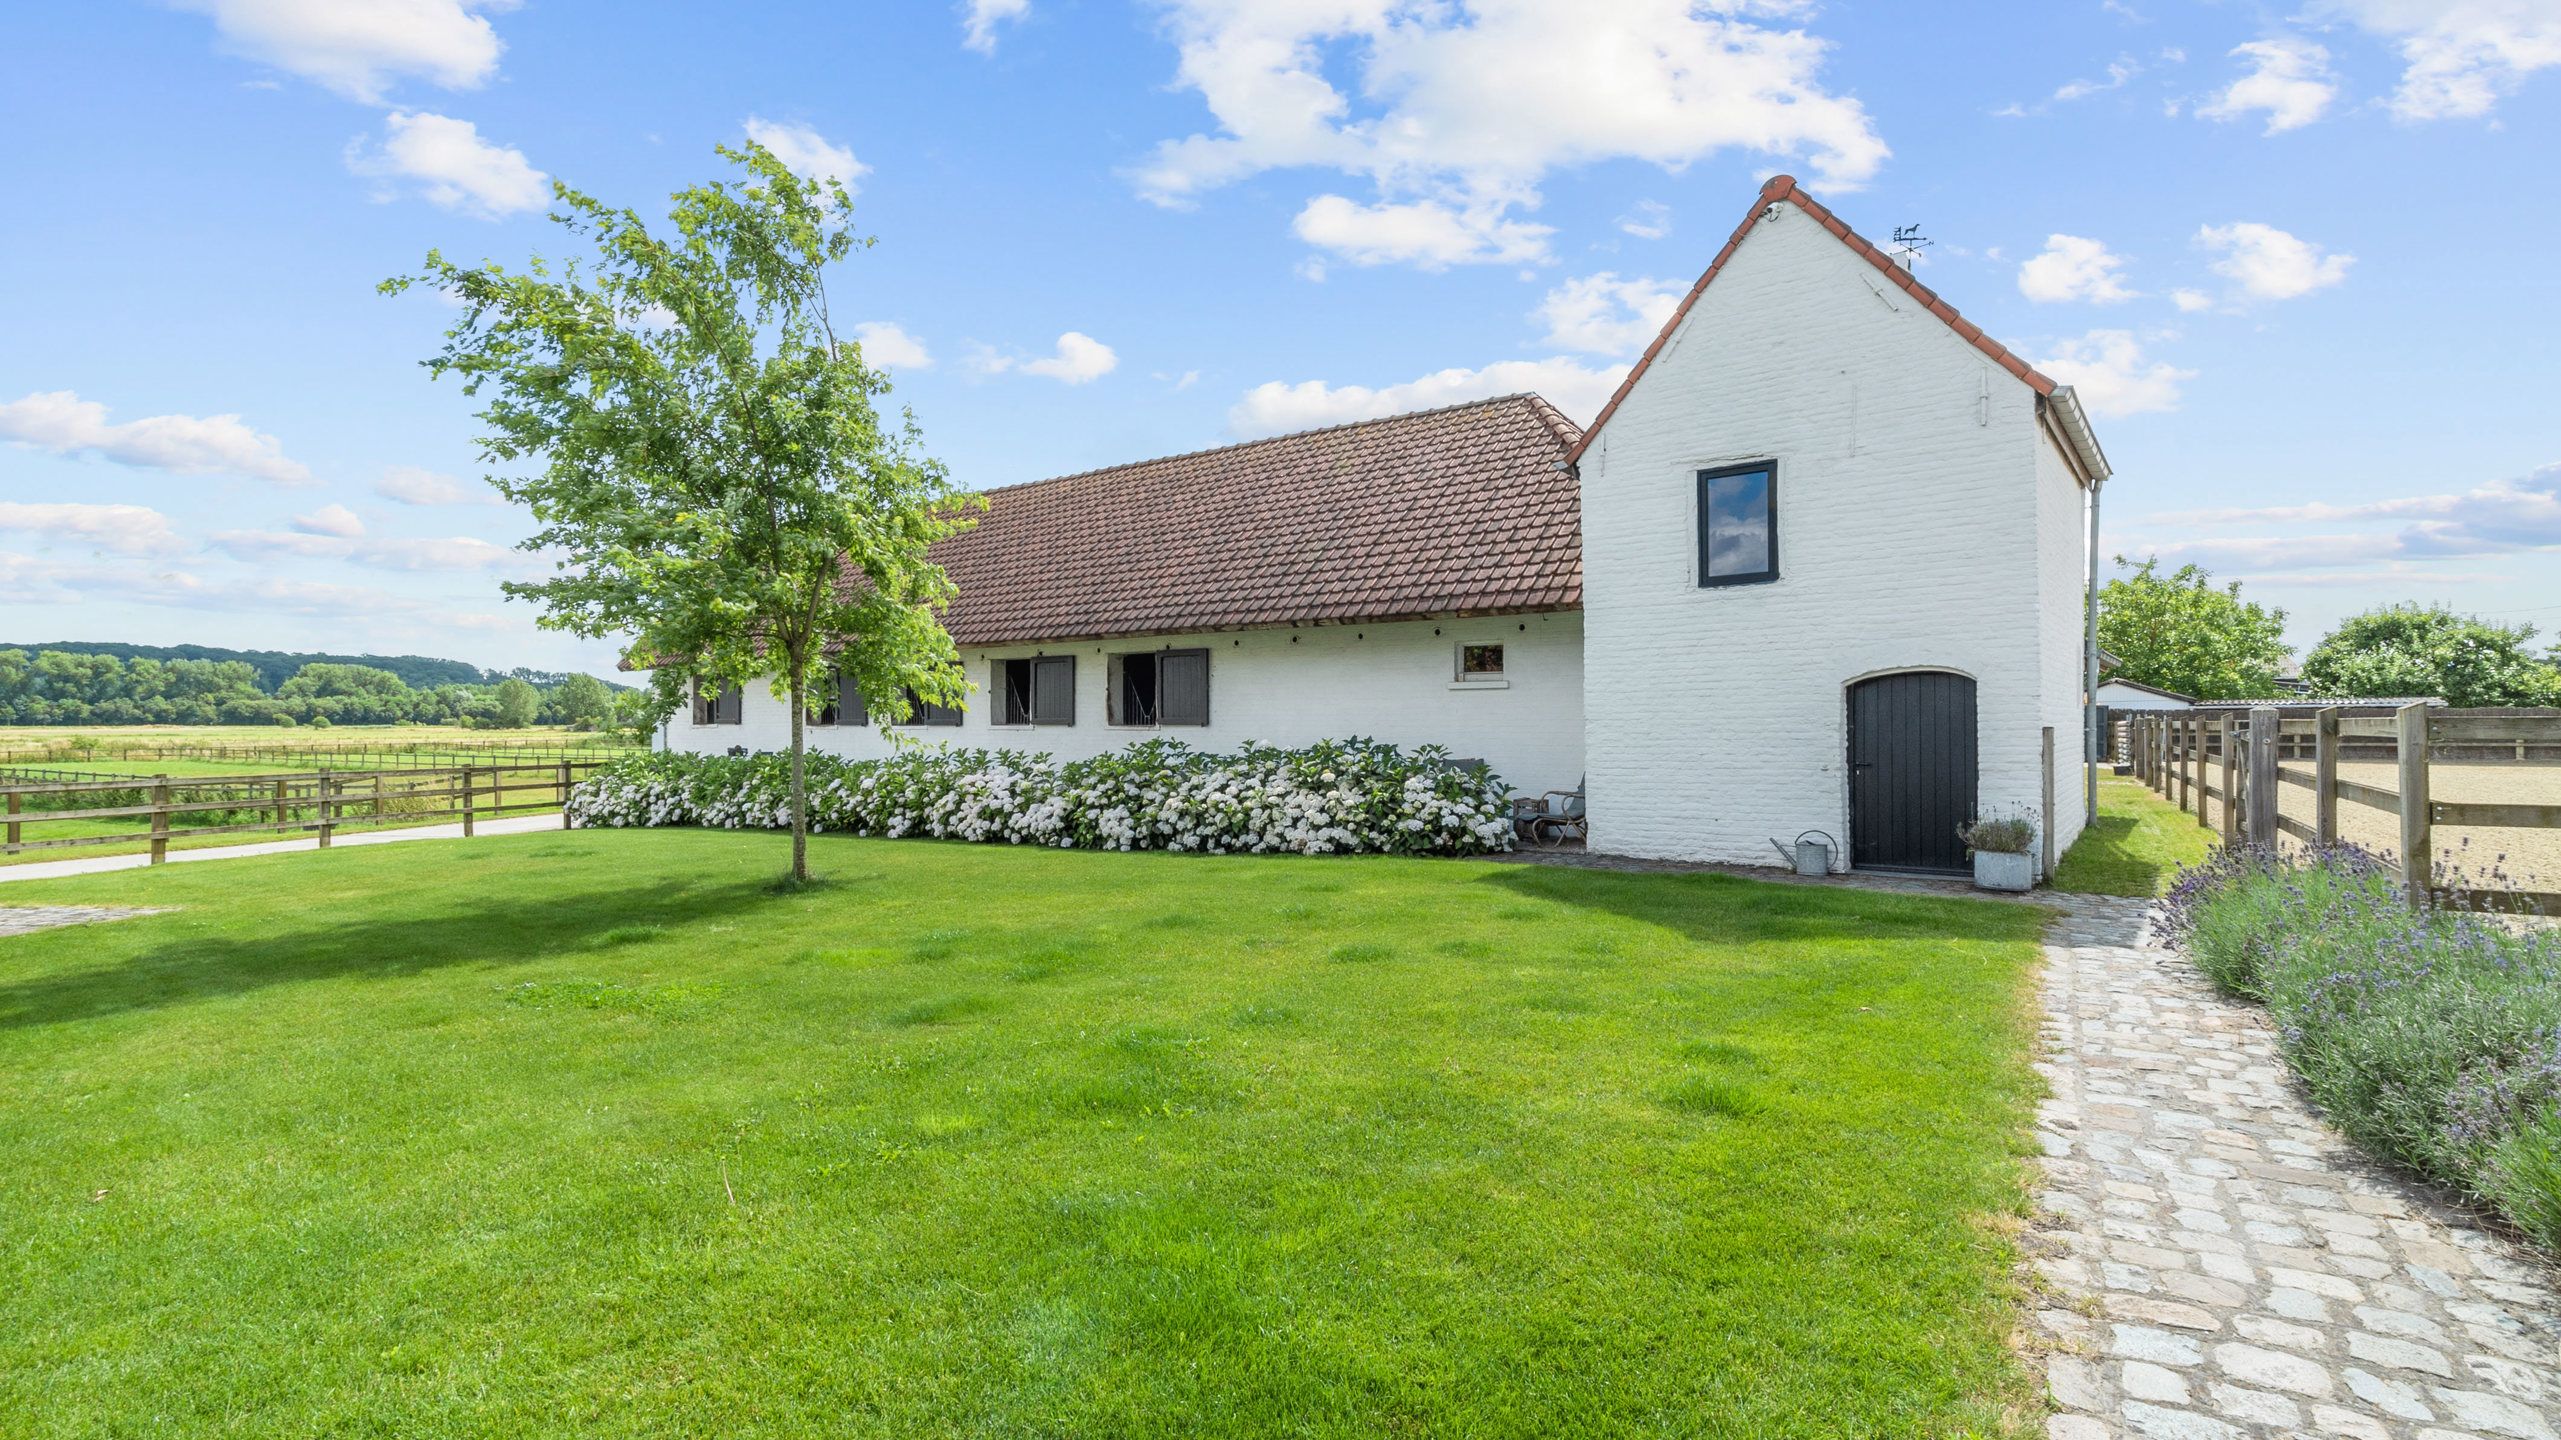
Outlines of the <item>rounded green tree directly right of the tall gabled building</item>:
<svg viewBox="0 0 2561 1440">
<path fill-rule="evenodd" d="M 2277 694 L 2284 666 L 2284 610 L 2241 600 L 2241 582 L 2213 584 L 2213 574 L 2161 561 L 2133 564 L 2115 556 L 2121 574 L 2097 592 L 2097 643 L 2115 656 L 2115 676 L 2156 684 L 2197 700 L 2259 700 Z"/>
</svg>

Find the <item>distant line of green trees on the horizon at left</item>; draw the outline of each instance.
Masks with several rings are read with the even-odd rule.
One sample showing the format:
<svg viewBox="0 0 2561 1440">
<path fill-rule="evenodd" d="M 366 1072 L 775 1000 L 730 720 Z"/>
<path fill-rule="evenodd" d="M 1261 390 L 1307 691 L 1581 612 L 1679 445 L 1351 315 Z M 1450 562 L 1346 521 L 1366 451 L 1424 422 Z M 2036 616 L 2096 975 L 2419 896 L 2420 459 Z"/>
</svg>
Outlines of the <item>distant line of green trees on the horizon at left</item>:
<svg viewBox="0 0 2561 1440">
<path fill-rule="evenodd" d="M 458 661 L 438 661 L 458 664 Z M 487 674 L 487 671 L 476 671 Z M 535 679 L 540 676 L 540 679 Z M 0 725 L 574 725 L 625 723 L 640 692 L 592 674 L 410 684 L 369 664 L 307 661 L 274 687 L 241 659 L 0 651 Z"/>
</svg>

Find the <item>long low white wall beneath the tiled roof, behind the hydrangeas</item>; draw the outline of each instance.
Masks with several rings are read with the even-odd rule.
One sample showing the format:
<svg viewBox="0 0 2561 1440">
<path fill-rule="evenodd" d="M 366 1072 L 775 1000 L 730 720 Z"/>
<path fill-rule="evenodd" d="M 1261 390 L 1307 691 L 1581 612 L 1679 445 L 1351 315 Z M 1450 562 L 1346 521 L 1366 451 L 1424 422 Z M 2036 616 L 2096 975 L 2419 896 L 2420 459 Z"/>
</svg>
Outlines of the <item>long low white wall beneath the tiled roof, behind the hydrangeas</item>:
<svg viewBox="0 0 2561 1440">
<path fill-rule="evenodd" d="M 1503 684 L 1452 682 L 1460 643 L 1503 646 Z M 1119 651 L 1209 648 L 1209 725 L 1135 730 L 1104 723 L 1106 659 Z M 1076 725 L 989 725 L 989 661 L 1035 653 L 1076 656 Z M 1447 746 L 1483 758 L 1516 792 L 1567 789 L 1583 776 L 1583 618 L 1498 615 L 1396 625 L 1240 630 L 1081 646 L 1004 646 L 960 653 L 971 710 L 958 728 L 904 730 L 925 740 L 1083 758 L 1152 735 L 1227 751 L 1245 740 L 1304 746 L 1368 735 L 1398 746 Z M 668 723 L 676 751 L 781 751 L 791 743 L 789 707 L 750 684 L 740 725 Z M 876 728 L 812 728 L 809 748 L 884 756 Z"/>
</svg>

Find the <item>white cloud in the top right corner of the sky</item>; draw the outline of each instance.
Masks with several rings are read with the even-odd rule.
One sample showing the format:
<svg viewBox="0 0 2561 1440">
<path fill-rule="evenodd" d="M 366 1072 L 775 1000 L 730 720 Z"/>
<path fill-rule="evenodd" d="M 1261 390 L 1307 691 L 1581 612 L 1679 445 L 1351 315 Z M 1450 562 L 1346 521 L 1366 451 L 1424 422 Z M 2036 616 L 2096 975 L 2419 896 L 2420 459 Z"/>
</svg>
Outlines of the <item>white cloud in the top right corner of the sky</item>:
<svg viewBox="0 0 2561 1440">
<path fill-rule="evenodd" d="M 2392 41 L 2402 120 L 2487 115 L 2528 74 L 2561 64 L 2561 5 L 2553 0 L 2328 0 L 2325 15 Z"/>
</svg>

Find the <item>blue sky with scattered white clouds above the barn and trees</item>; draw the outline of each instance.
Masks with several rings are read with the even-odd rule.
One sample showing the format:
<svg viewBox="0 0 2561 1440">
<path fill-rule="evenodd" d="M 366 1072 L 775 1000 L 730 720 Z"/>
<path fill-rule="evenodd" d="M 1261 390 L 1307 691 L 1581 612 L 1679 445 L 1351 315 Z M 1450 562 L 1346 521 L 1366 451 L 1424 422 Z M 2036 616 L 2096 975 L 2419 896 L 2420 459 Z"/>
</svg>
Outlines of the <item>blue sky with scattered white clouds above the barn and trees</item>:
<svg viewBox="0 0 2561 1440">
<path fill-rule="evenodd" d="M 1954 15 L 1954 18 L 1951 18 Z M 750 126 L 994 487 L 1470 395 L 1588 420 L 1788 169 L 2082 389 L 2108 546 L 2297 646 L 2561 628 L 2561 0 L 187 0 L 0 23 L 0 641 L 610 669 L 497 579 L 430 249 Z"/>
</svg>

